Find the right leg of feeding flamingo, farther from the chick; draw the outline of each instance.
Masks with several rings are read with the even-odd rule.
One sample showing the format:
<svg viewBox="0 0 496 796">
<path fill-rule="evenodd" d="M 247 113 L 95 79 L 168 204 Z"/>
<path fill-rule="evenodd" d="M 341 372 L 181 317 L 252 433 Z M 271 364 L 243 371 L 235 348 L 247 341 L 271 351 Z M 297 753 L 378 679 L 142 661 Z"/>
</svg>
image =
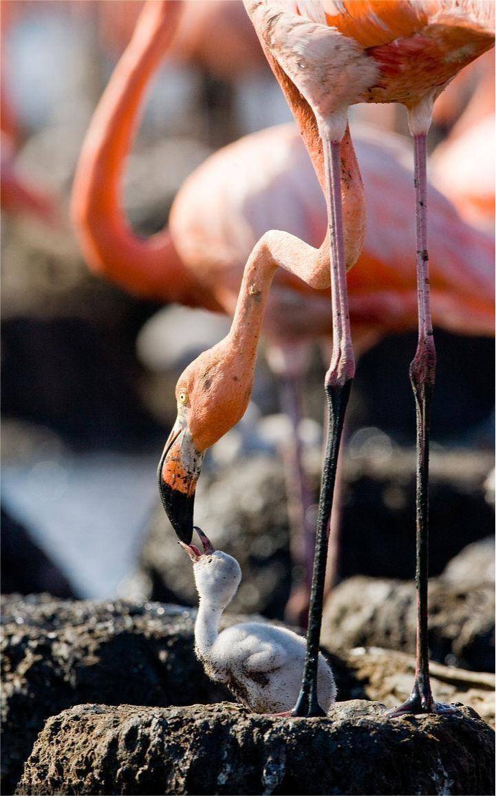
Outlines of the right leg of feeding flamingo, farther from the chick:
<svg viewBox="0 0 496 796">
<path fill-rule="evenodd" d="M 427 246 L 426 135 L 415 136 L 416 270 L 419 302 L 419 339 L 410 365 L 410 381 L 416 406 L 416 673 L 412 693 L 389 716 L 404 713 L 451 712 L 451 705 L 437 704 L 432 697 L 428 646 L 429 567 L 429 439 L 432 392 L 435 380 L 435 345 L 432 331 Z"/>
</svg>

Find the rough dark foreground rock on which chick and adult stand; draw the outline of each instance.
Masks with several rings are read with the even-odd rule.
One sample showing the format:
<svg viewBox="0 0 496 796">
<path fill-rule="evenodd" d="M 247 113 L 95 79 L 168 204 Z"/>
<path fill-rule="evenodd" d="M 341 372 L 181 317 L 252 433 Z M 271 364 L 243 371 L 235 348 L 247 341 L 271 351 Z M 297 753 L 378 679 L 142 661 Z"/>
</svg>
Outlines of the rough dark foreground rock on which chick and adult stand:
<svg viewBox="0 0 496 796">
<path fill-rule="evenodd" d="M 291 720 L 224 703 L 88 704 L 45 724 L 17 793 L 493 794 L 493 748 L 470 708 L 389 720 L 353 700 Z"/>
</svg>

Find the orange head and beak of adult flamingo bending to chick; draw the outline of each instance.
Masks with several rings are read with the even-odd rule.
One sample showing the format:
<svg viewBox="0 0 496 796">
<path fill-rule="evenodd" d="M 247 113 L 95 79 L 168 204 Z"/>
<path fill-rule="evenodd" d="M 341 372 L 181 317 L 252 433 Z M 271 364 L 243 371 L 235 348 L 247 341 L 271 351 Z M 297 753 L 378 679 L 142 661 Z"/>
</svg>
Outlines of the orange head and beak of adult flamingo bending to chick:
<svg viewBox="0 0 496 796">
<path fill-rule="evenodd" d="M 201 353 L 178 379 L 178 416 L 158 465 L 158 489 L 185 544 L 193 537 L 194 496 L 205 452 L 244 415 L 252 379 L 229 336 Z"/>
</svg>

